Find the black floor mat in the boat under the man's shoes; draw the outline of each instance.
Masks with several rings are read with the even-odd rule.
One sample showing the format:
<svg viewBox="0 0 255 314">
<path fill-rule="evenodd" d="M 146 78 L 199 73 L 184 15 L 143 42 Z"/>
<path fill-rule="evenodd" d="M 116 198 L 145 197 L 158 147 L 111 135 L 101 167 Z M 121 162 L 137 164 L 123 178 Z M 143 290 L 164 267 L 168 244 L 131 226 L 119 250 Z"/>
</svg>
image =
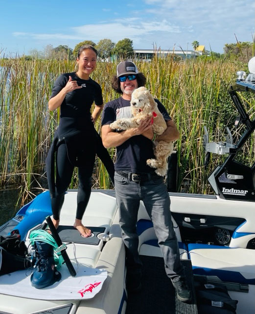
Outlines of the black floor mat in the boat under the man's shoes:
<svg viewBox="0 0 255 314">
<path fill-rule="evenodd" d="M 184 303 L 177 299 L 175 289 L 164 270 L 160 257 L 140 256 L 143 263 L 141 291 L 129 294 L 125 314 L 197 314 L 195 288 L 190 261 L 181 260 L 192 300 Z"/>
</svg>

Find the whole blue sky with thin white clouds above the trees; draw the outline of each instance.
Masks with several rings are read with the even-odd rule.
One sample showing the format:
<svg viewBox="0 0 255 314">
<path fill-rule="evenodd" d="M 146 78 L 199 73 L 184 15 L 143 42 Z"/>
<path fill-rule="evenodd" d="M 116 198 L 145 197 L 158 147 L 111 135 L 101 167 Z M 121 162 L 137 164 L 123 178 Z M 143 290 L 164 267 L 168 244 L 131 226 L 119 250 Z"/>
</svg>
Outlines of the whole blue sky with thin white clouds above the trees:
<svg viewBox="0 0 255 314">
<path fill-rule="evenodd" d="M 1 55 L 29 54 L 84 40 L 124 38 L 134 49 L 154 47 L 223 53 L 253 41 L 255 0 L 0 0 Z"/>
</svg>

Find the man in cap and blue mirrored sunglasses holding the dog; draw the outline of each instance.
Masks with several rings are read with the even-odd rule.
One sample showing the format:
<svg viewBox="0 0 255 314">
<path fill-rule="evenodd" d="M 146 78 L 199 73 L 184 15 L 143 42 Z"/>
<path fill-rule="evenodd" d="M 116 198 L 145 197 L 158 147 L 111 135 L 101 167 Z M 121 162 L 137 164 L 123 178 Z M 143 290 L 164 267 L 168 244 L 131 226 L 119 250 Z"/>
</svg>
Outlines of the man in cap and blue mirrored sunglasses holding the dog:
<svg viewBox="0 0 255 314">
<path fill-rule="evenodd" d="M 177 290 L 180 300 L 190 300 L 190 291 L 185 285 L 184 270 L 180 263 L 177 238 L 173 229 L 170 199 L 163 182 L 146 160 L 154 158 L 151 118 L 141 122 L 138 128 L 125 131 L 111 130 L 110 124 L 119 118 L 130 118 L 130 100 L 134 89 L 144 86 L 146 78 L 131 61 L 120 62 L 113 88 L 122 96 L 104 106 L 102 114 L 102 140 L 106 148 L 116 147 L 115 190 L 119 209 L 119 224 L 126 249 L 127 289 L 141 288 L 141 262 L 138 253 L 139 237 L 136 232 L 139 202 L 152 219 L 158 243 L 162 250 L 165 271 Z M 173 120 L 164 106 L 155 100 L 167 124 L 167 129 L 157 140 L 167 142 L 179 138 Z"/>
</svg>

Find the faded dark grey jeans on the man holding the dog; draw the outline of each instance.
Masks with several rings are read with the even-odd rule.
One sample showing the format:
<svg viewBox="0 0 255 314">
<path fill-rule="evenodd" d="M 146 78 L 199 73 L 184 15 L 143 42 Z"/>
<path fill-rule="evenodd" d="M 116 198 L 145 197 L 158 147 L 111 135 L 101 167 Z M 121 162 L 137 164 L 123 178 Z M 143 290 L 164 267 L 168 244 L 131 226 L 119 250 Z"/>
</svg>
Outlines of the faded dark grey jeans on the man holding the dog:
<svg viewBox="0 0 255 314">
<path fill-rule="evenodd" d="M 139 272 L 141 269 L 136 224 L 139 202 L 143 201 L 147 213 L 153 222 L 164 258 L 167 276 L 170 279 L 175 279 L 179 276 L 183 277 L 178 242 L 171 220 L 170 198 L 163 178 L 133 182 L 129 178 L 124 178 L 115 172 L 115 191 L 119 209 L 119 224 L 126 248 L 128 270 Z"/>
</svg>

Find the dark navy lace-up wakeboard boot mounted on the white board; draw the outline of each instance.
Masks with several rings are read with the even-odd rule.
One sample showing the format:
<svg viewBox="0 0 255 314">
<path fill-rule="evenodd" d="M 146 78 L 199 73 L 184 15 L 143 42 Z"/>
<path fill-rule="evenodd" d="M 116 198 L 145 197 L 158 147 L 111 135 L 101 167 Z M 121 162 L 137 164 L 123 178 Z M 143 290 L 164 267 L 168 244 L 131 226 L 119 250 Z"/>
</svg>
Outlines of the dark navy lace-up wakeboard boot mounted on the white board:
<svg viewBox="0 0 255 314">
<path fill-rule="evenodd" d="M 61 279 L 61 274 L 55 269 L 54 248 L 52 245 L 35 241 L 36 251 L 35 271 L 31 275 L 31 286 L 45 288 L 53 285 Z"/>
</svg>

